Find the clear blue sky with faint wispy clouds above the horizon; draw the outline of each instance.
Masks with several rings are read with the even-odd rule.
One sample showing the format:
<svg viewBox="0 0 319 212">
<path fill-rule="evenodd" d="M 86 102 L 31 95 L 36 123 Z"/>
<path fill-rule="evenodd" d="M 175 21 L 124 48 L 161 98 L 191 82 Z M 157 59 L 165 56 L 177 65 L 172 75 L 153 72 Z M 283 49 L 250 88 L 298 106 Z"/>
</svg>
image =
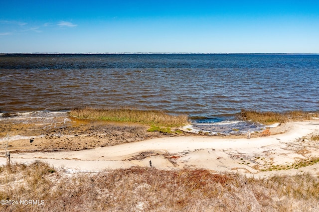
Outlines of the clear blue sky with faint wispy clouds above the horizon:
<svg viewBox="0 0 319 212">
<path fill-rule="evenodd" d="M 1 0 L 0 52 L 319 53 L 319 0 Z"/>
</svg>

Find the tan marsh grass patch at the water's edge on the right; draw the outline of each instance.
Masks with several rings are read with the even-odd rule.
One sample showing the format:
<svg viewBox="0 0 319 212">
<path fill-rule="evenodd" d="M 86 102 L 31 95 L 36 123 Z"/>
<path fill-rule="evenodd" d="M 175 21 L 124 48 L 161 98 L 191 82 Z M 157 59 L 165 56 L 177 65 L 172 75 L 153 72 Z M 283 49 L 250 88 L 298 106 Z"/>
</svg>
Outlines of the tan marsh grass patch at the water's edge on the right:
<svg viewBox="0 0 319 212">
<path fill-rule="evenodd" d="M 244 120 L 252 120 L 263 124 L 272 123 L 285 123 L 290 120 L 302 121 L 310 120 L 313 117 L 319 117 L 318 112 L 305 112 L 301 110 L 288 111 L 288 112 L 271 112 L 271 111 L 257 111 L 257 110 L 241 110 L 238 118 L 243 118 Z"/>
</svg>

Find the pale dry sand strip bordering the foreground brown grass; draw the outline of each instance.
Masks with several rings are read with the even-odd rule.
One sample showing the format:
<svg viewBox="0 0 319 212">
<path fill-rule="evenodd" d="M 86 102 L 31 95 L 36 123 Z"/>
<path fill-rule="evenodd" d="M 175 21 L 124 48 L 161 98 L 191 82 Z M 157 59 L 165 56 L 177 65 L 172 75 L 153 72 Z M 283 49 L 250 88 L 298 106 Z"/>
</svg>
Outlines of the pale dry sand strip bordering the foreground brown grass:
<svg viewBox="0 0 319 212">
<path fill-rule="evenodd" d="M 310 172 L 319 175 L 319 120 L 289 122 L 284 133 L 267 137 L 179 136 L 153 138 L 80 151 L 12 153 L 12 162 L 48 162 L 55 168 L 95 172 L 131 166 L 157 169 L 204 168 L 269 176 Z M 274 129 L 276 131 L 276 129 Z M 311 163 L 309 161 L 315 161 Z M 300 166 L 301 161 L 307 162 Z M 0 158 L 5 164 L 5 158 Z M 276 170 L 276 171 L 274 171 Z"/>
</svg>

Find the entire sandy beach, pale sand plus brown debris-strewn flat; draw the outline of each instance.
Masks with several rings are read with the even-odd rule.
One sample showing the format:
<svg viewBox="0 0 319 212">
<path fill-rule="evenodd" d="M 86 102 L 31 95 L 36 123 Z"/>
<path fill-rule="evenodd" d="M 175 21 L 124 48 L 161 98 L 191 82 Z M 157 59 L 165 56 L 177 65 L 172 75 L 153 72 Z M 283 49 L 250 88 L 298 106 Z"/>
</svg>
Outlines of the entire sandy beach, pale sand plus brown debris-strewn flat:
<svg viewBox="0 0 319 212">
<path fill-rule="evenodd" d="M 147 128 L 77 120 L 70 126 L 46 131 L 15 125 L 3 128 L 2 133 L 44 135 L 9 141 L 12 162 L 41 160 L 70 172 L 150 167 L 151 161 L 152 167 L 165 170 L 204 168 L 260 177 L 300 172 L 319 175 L 319 141 L 312 139 L 319 134 L 319 120 L 288 122 L 271 128 L 270 136 L 253 134 L 251 139 L 186 132 L 163 134 L 147 132 Z M 3 148 L 0 151 L 3 153 Z M 0 163 L 5 164 L 1 155 Z"/>
</svg>

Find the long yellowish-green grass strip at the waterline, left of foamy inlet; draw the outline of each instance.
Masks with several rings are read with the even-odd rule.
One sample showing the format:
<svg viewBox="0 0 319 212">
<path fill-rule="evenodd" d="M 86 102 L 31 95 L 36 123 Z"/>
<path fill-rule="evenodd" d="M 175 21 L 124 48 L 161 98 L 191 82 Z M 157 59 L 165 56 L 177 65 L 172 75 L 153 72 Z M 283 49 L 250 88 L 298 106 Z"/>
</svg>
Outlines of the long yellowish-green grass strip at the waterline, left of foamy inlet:
<svg viewBox="0 0 319 212">
<path fill-rule="evenodd" d="M 69 114 L 78 118 L 134 122 L 160 126 L 182 126 L 189 123 L 187 115 L 169 115 L 161 110 L 139 110 L 127 107 L 110 109 L 77 107 L 71 109 Z"/>
</svg>

